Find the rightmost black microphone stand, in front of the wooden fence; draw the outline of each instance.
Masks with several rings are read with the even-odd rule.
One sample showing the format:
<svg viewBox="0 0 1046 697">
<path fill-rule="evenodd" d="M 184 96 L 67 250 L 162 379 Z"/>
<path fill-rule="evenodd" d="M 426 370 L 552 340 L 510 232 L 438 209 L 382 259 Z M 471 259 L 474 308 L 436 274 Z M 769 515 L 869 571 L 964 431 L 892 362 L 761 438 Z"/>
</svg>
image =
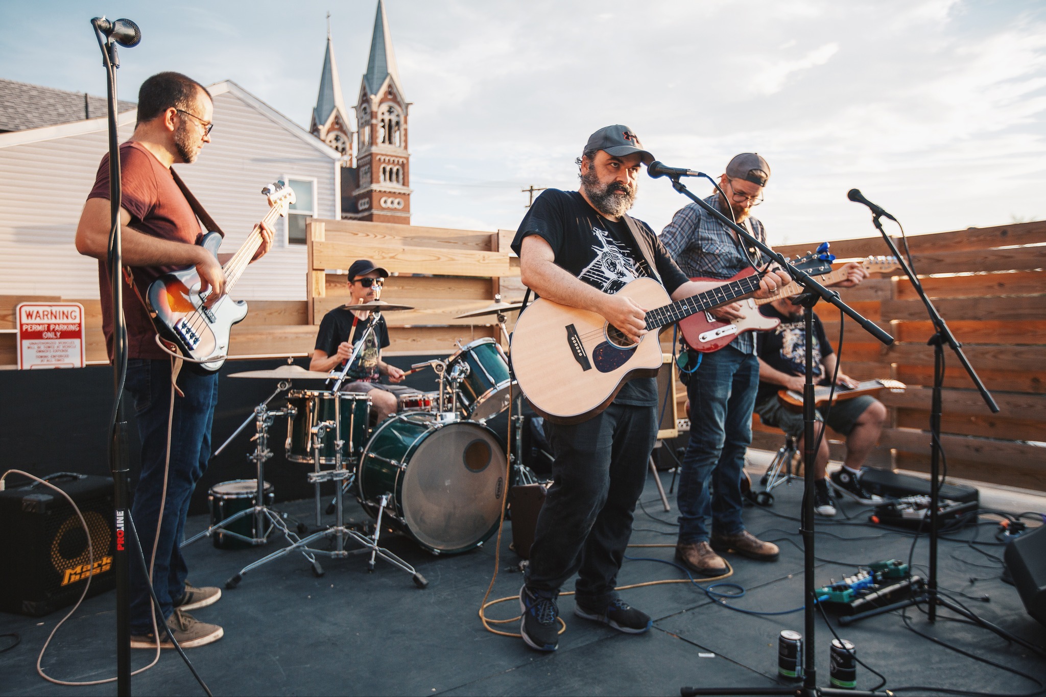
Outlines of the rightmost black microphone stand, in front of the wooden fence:
<svg viewBox="0 0 1046 697">
<path fill-rule="evenodd" d="M 959 357 L 959 363 L 962 364 L 962 368 L 970 375 L 970 379 L 973 380 L 974 385 L 977 387 L 977 391 L 980 392 L 981 398 L 987 408 L 992 410 L 993 414 L 999 413 L 999 405 L 996 404 L 995 399 L 992 397 L 992 393 L 987 391 L 984 384 L 981 382 L 980 377 L 974 370 L 973 366 L 967 359 L 964 353 L 962 353 L 962 344 L 960 344 L 955 339 L 955 334 L 945 323 L 943 318 L 937 312 L 937 308 L 934 307 L 933 302 L 926 295 L 926 291 L 923 289 L 923 283 L 919 282 L 918 278 L 915 276 L 915 271 L 908 265 L 908 261 L 905 257 L 901 256 L 901 252 L 897 251 L 897 246 L 893 242 L 893 238 L 886 234 L 883 230 L 883 224 L 881 218 L 881 213 L 873 212 L 871 216 L 871 223 L 879 230 L 880 234 L 883 235 L 883 239 L 886 240 L 886 246 L 890 248 L 890 253 L 896 257 L 897 262 L 904 270 L 905 275 L 908 280 L 911 281 L 912 287 L 915 288 L 915 293 L 918 294 L 919 300 L 926 305 L 927 315 L 930 316 L 930 321 L 933 322 L 934 332 L 930 336 L 930 341 L 927 345 L 933 347 L 933 397 L 930 404 L 930 573 L 927 575 L 926 591 L 914 596 L 908 600 L 903 600 L 897 603 L 886 605 L 885 607 L 876 608 L 873 610 L 868 610 L 867 612 L 860 612 L 858 614 L 852 614 L 844 618 L 844 624 L 850 624 L 852 622 L 858 622 L 865 618 L 874 617 L 877 614 L 883 614 L 884 612 L 892 612 L 904 607 L 911 607 L 912 605 L 917 605 L 919 603 L 927 603 L 927 619 L 930 622 L 936 622 L 937 620 L 937 605 L 942 605 L 949 609 L 958 612 L 959 614 L 967 615 L 961 608 L 955 606 L 947 598 L 940 598 L 937 595 L 937 522 L 938 522 L 938 502 L 940 498 L 940 461 L 943 455 L 943 448 L 940 445 L 940 415 L 942 410 L 941 405 L 941 389 L 945 385 L 945 345 L 947 344 L 955 351 L 955 354 Z"/>
</svg>

